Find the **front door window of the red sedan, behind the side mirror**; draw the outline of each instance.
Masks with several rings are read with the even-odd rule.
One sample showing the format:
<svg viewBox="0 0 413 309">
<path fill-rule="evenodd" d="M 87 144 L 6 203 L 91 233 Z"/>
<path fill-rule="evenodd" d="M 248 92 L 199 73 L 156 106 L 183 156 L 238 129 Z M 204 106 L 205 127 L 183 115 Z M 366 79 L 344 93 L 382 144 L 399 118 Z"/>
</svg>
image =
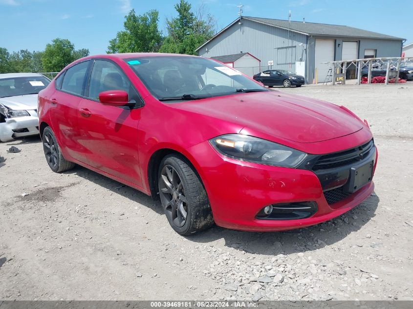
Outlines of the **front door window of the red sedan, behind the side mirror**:
<svg viewBox="0 0 413 309">
<path fill-rule="evenodd" d="M 138 94 L 123 71 L 113 62 L 95 60 L 90 74 L 87 97 L 99 100 L 99 93 L 108 90 L 123 90 L 128 93 L 129 100 L 138 102 Z"/>
</svg>

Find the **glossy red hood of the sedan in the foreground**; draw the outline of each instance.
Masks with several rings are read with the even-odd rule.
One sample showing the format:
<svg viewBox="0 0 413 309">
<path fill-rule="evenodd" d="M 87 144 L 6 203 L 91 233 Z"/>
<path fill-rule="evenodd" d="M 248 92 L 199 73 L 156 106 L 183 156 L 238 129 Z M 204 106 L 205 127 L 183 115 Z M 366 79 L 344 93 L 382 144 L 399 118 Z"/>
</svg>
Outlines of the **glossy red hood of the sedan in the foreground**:
<svg viewBox="0 0 413 309">
<path fill-rule="evenodd" d="M 360 119 L 337 105 L 278 91 L 239 93 L 170 106 L 238 124 L 244 131 L 299 143 L 326 141 L 363 128 Z"/>
</svg>

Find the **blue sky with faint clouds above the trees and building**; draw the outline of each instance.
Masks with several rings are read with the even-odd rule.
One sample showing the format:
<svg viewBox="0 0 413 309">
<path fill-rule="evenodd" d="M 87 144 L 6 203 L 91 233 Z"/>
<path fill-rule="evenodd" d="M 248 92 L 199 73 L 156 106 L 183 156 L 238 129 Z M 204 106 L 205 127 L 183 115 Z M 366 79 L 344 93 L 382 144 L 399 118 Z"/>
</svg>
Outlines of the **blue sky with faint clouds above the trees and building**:
<svg viewBox="0 0 413 309">
<path fill-rule="evenodd" d="M 125 15 L 159 11 L 165 35 L 166 18 L 176 15 L 178 0 L 0 0 L 0 47 L 9 52 L 43 50 L 55 38 L 68 39 L 91 55 L 106 53 L 109 40 L 123 30 Z M 413 42 L 413 1 L 389 0 L 189 0 L 193 9 L 204 4 L 217 20 L 217 30 L 244 16 L 341 24 L 384 33 Z M 388 22 L 386 22 L 388 21 Z"/>
</svg>

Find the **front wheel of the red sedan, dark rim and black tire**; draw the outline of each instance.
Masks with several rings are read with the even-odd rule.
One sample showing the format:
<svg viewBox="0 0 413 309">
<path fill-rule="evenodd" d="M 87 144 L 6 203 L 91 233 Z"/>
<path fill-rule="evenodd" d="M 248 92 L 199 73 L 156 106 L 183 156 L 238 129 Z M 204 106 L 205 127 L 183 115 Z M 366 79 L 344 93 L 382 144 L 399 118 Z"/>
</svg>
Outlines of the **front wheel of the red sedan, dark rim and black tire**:
<svg viewBox="0 0 413 309">
<path fill-rule="evenodd" d="M 192 235 L 214 224 L 205 188 L 183 156 L 171 154 L 162 160 L 158 188 L 168 222 L 178 234 Z"/>
</svg>

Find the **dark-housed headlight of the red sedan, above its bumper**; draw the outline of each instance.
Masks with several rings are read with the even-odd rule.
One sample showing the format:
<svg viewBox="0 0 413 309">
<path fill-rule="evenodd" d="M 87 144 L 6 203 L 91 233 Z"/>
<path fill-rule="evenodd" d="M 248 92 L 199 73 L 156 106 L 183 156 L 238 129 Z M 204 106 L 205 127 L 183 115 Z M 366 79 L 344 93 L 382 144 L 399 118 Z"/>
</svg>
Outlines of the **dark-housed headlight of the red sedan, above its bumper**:
<svg viewBox="0 0 413 309">
<path fill-rule="evenodd" d="M 210 143 L 225 156 L 266 165 L 297 167 L 307 156 L 302 151 L 242 134 L 221 135 Z"/>
</svg>

